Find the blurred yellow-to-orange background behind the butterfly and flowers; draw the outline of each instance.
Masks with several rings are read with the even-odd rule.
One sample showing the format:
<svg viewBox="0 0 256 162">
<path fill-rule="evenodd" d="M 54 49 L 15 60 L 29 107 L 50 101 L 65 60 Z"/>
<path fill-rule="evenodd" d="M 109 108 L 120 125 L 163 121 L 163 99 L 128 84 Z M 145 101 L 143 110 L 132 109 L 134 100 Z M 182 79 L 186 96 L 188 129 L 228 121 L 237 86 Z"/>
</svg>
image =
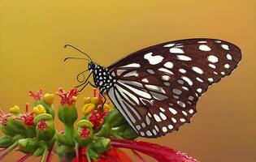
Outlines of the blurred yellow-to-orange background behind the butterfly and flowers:
<svg viewBox="0 0 256 162">
<path fill-rule="evenodd" d="M 141 140 L 187 152 L 201 161 L 256 161 L 255 6 L 254 0 L 2 0 L 0 106 L 6 111 L 15 104 L 24 108 L 27 101 L 33 103 L 29 90 L 41 87 L 56 92 L 60 86 L 77 85 L 76 75 L 87 63 L 64 63 L 65 57 L 83 57 L 63 49 L 67 43 L 108 66 L 137 49 L 167 40 L 219 38 L 241 47 L 243 58 L 237 70 L 202 96 L 191 124 L 162 138 Z M 80 99 L 89 95 L 91 88 Z M 58 128 L 62 129 L 61 123 Z M 20 156 L 14 152 L 2 161 Z"/>
</svg>

